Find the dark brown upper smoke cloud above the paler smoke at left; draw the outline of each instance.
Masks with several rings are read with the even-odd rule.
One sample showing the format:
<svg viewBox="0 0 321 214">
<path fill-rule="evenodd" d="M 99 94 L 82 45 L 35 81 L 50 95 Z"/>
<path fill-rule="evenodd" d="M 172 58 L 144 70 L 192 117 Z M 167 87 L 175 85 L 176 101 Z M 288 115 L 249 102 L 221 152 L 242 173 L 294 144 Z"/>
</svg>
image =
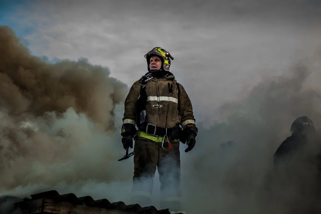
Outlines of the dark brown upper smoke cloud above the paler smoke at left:
<svg viewBox="0 0 321 214">
<path fill-rule="evenodd" d="M 107 68 L 63 61 L 54 65 L 31 56 L 13 32 L 1 28 L 1 104 L 9 113 L 35 116 L 73 108 L 95 123 L 110 123 L 115 104 L 123 100 L 126 85 L 108 77 Z"/>
</svg>

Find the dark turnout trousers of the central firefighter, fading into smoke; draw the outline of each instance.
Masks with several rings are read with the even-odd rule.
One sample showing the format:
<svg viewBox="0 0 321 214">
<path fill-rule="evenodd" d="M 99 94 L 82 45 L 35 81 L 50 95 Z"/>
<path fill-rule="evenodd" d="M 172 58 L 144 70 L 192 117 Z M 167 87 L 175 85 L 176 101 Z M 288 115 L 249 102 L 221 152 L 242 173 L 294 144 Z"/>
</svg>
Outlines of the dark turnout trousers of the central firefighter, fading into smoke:
<svg viewBox="0 0 321 214">
<path fill-rule="evenodd" d="M 168 148 L 168 144 L 165 148 Z M 153 180 L 157 168 L 160 176 L 160 208 L 180 210 L 179 142 L 172 143 L 172 148 L 165 150 L 161 143 L 137 138 L 134 151 L 132 201 L 141 206 L 151 206 Z"/>
</svg>

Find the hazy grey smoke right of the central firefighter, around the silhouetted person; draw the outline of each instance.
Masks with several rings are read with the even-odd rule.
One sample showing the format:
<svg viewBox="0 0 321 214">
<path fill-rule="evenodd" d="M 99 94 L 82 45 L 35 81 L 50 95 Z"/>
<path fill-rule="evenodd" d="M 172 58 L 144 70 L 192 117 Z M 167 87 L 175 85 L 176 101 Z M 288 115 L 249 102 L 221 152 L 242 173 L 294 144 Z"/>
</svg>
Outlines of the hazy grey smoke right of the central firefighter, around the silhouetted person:
<svg viewBox="0 0 321 214">
<path fill-rule="evenodd" d="M 316 168 L 296 165 L 301 177 L 293 179 L 295 173 L 273 167 L 273 154 L 291 135 L 293 120 L 307 115 L 320 129 L 321 87 L 313 84 L 321 79 L 318 59 L 301 60 L 283 76 L 262 81 L 246 99 L 223 105 L 220 122 L 200 129 L 197 147 L 182 160 L 185 201 L 194 202 L 185 204 L 190 213 L 320 210 L 316 195 L 307 193 L 319 185 Z"/>
</svg>

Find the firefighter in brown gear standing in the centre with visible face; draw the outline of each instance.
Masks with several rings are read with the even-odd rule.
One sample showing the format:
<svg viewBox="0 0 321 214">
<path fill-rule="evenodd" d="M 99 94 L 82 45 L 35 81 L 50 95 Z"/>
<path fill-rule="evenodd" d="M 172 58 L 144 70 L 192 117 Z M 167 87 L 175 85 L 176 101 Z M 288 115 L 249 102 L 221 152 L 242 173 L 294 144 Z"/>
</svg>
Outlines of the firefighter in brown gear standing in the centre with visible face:
<svg viewBox="0 0 321 214">
<path fill-rule="evenodd" d="M 183 86 L 169 72 L 170 59 L 174 59 L 169 52 L 156 47 L 145 58 L 148 72 L 130 88 L 121 132 L 125 149 L 133 148 L 135 140 L 132 200 L 151 204 L 157 168 L 161 207 L 179 210 L 179 141 L 187 144 L 188 152 L 195 146 L 197 135 L 192 104 Z"/>
</svg>

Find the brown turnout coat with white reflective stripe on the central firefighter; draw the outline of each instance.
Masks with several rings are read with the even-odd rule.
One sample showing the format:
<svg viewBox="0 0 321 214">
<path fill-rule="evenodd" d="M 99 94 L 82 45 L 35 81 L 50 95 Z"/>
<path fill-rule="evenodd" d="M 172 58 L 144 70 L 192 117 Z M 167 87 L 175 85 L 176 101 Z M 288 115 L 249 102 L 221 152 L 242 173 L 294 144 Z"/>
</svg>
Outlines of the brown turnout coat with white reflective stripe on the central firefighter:
<svg viewBox="0 0 321 214">
<path fill-rule="evenodd" d="M 147 81 L 145 113 L 140 112 L 140 121 L 156 125 L 161 128 L 172 128 L 177 123 L 183 126 L 195 125 L 192 103 L 181 84 L 178 84 L 173 75 L 165 78 L 156 78 Z M 140 96 L 141 83 L 136 81 L 126 97 L 123 123 L 136 124 L 137 100 Z M 179 93 L 178 93 L 179 92 Z M 161 107 L 157 107 L 157 105 Z"/>
</svg>

